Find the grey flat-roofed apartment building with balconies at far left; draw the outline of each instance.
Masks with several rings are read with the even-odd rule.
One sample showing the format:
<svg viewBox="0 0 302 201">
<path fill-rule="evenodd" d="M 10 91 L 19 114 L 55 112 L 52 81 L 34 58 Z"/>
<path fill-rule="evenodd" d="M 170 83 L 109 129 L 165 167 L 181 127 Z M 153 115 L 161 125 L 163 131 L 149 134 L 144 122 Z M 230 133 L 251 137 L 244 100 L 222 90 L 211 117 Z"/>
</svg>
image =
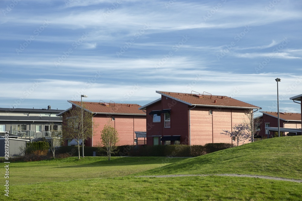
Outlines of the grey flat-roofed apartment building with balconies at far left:
<svg viewBox="0 0 302 201">
<path fill-rule="evenodd" d="M 60 135 L 62 120 L 57 117 L 63 110 L 47 108 L 0 108 L 0 134 L 5 131 L 11 137 L 39 141 L 49 137 L 50 132 Z"/>
</svg>

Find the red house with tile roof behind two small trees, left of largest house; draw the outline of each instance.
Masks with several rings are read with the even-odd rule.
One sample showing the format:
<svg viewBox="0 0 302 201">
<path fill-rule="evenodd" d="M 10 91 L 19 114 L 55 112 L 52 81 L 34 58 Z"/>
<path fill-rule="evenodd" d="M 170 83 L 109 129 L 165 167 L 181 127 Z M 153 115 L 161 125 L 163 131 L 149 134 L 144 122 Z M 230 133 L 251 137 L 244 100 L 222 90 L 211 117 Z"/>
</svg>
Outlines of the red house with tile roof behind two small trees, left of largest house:
<svg viewBox="0 0 302 201">
<path fill-rule="evenodd" d="M 67 115 L 67 111 L 75 107 L 81 108 L 80 101 L 68 101 L 72 107 L 61 112 L 58 116 Z M 101 144 L 101 131 L 110 122 L 119 136 L 117 145 L 134 145 L 136 140 L 143 140 L 136 132 L 146 132 L 146 113 L 138 108 L 137 104 L 121 104 L 114 102 L 83 102 L 83 108 L 93 114 L 93 136 L 85 140 L 85 146 L 99 146 Z M 63 118 L 64 119 L 64 118 Z M 63 122 L 64 124 L 65 122 Z M 66 145 L 71 145 L 73 139 L 69 139 Z"/>
</svg>

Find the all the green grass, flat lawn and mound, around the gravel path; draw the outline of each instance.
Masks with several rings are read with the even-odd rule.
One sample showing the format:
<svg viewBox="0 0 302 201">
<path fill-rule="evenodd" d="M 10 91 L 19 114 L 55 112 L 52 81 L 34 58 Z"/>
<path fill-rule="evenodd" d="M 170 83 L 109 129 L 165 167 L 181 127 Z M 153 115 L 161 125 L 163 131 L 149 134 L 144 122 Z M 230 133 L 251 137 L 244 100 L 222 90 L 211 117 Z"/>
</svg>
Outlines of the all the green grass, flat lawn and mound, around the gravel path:
<svg viewBox="0 0 302 201">
<path fill-rule="evenodd" d="M 250 177 L 134 177 L 258 174 L 302 179 L 302 136 L 249 143 L 196 158 L 76 157 L 12 162 L 0 200 L 301 200 L 302 183 Z M 166 162 L 166 163 L 164 163 Z M 167 163 L 168 162 L 168 163 Z M 168 165 L 166 165 L 168 164 Z M 4 166 L 4 165 L 3 165 Z M 0 168 L 4 175 L 5 168 Z"/>
</svg>

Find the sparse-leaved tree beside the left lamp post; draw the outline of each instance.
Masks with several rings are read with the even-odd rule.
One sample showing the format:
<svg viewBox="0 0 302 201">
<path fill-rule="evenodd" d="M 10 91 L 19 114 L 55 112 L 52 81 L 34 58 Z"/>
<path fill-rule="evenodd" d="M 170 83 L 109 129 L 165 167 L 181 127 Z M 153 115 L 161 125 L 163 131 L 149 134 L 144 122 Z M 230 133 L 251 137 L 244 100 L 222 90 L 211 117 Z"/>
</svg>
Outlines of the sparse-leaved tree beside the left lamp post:
<svg viewBox="0 0 302 201">
<path fill-rule="evenodd" d="M 85 111 L 83 105 L 83 121 L 82 110 L 79 107 L 72 108 L 63 114 L 63 138 L 74 139 L 78 143 L 78 154 L 80 159 L 80 143 L 82 139 L 92 136 L 92 113 Z M 84 146 L 84 142 L 82 142 Z"/>
</svg>

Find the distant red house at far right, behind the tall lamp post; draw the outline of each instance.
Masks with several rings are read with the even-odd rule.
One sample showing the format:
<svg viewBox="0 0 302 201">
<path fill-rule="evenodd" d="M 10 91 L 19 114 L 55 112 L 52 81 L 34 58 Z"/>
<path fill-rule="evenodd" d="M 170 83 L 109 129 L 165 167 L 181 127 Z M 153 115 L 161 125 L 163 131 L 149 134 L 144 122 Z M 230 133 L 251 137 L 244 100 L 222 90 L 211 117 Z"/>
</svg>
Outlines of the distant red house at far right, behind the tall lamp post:
<svg viewBox="0 0 302 201">
<path fill-rule="evenodd" d="M 263 115 L 257 117 L 261 122 L 256 125 L 259 136 L 271 138 L 278 136 L 278 113 L 260 111 Z M 279 112 L 280 136 L 301 134 L 301 113 Z M 284 129 L 283 129 L 284 128 Z"/>
</svg>

